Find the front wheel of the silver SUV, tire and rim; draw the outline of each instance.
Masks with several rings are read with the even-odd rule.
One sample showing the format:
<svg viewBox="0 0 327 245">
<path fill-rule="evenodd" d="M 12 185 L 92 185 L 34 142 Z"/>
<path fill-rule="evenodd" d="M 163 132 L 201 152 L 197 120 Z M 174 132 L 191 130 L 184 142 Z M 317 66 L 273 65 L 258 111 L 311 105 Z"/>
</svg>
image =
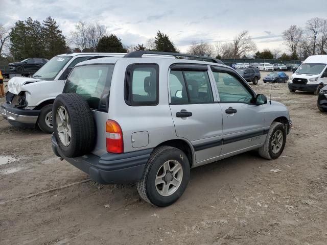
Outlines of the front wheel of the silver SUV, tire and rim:
<svg viewBox="0 0 327 245">
<path fill-rule="evenodd" d="M 285 125 L 274 121 L 270 126 L 264 145 L 259 148 L 259 155 L 268 160 L 281 156 L 285 148 L 286 136 Z"/>
</svg>

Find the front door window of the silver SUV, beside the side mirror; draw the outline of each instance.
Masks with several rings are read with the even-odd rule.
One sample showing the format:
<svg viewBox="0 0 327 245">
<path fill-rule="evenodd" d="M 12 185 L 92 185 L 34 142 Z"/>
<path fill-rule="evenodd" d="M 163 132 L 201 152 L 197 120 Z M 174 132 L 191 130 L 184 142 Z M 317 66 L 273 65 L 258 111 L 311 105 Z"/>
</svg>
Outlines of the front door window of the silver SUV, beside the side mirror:
<svg viewBox="0 0 327 245">
<path fill-rule="evenodd" d="M 221 102 L 253 103 L 252 94 L 233 74 L 225 71 L 213 71 Z"/>
</svg>

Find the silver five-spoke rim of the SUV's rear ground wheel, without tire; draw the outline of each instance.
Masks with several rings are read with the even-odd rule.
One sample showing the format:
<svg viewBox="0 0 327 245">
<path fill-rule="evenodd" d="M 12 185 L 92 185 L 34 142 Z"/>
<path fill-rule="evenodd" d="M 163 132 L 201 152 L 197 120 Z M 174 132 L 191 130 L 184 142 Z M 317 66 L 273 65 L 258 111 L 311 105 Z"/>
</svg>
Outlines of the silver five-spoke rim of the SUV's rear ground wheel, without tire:
<svg viewBox="0 0 327 245">
<path fill-rule="evenodd" d="M 156 179 L 155 187 L 160 195 L 168 197 L 175 193 L 183 179 L 182 165 L 176 160 L 169 160 L 161 165 Z"/>
</svg>

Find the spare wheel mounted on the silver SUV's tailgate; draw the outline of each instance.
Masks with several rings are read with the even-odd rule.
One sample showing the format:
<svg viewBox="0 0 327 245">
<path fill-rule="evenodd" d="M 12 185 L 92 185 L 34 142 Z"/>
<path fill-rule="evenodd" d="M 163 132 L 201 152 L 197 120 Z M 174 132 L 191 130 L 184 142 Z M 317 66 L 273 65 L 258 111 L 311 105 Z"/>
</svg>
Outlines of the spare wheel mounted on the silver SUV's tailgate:
<svg viewBox="0 0 327 245">
<path fill-rule="evenodd" d="M 95 124 L 87 102 L 77 93 L 62 93 L 52 109 L 53 129 L 61 153 L 83 156 L 95 146 Z"/>
</svg>

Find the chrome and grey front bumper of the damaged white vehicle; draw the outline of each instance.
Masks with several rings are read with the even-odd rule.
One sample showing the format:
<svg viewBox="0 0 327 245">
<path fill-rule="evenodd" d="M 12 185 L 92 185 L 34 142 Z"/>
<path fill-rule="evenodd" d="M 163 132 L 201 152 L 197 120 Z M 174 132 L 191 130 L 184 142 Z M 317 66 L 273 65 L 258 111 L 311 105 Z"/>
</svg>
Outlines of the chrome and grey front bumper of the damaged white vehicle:
<svg viewBox="0 0 327 245">
<path fill-rule="evenodd" d="M 4 103 L 0 106 L 0 114 L 16 127 L 35 127 L 40 110 L 25 110 Z"/>
</svg>

